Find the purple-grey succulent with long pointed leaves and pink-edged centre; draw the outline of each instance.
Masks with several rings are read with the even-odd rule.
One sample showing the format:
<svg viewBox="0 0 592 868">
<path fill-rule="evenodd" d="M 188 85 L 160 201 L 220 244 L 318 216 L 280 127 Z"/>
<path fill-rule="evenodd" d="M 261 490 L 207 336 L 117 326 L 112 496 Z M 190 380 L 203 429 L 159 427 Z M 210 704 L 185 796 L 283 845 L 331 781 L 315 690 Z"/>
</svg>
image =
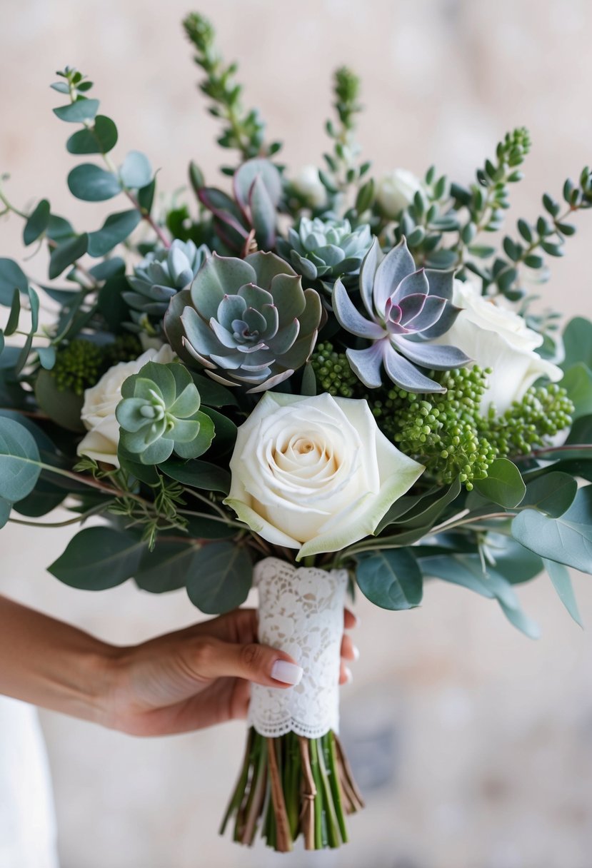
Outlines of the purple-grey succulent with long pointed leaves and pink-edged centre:
<svg viewBox="0 0 592 868">
<path fill-rule="evenodd" d="M 364 350 L 348 349 L 347 360 L 370 389 L 382 385 L 381 368 L 400 388 L 444 392 L 416 365 L 449 371 L 470 362 L 456 346 L 428 345 L 447 332 L 461 308 L 452 304 L 453 273 L 416 269 L 405 239 L 383 258 L 375 239 L 360 269 L 359 292 L 368 318 L 358 312 L 341 280 L 332 293 L 335 316 L 346 332 L 371 341 Z"/>
</svg>

